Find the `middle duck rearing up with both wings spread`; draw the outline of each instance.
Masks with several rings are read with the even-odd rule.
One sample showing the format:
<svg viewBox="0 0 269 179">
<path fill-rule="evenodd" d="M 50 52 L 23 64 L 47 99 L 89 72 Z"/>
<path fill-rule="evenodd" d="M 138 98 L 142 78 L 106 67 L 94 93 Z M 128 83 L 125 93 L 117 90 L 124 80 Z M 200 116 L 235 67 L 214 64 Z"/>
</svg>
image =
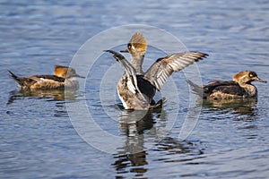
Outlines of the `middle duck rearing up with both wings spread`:
<svg viewBox="0 0 269 179">
<path fill-rule="evenodd" d="M 172 54 L 159 58 L 147 72 L 143 72 L 142 64 L 146 47 L 147 44 L 143 35 L 135 33 L 126 50 L 132 55 L 131 64 L 123 55 L 113 50 L 106 50 L 106 52 L 113 54 L 117 61 L 124 66 L 125 73 L 117 83 L 117 94 L 126 109 L 161 107 L 164 98 L 157 103 L 153 100 L 156 89 L 161 90 L 164 82 L 173 72 L 178 72 L 189 64 L 193 64 L 207 56 L 200 52 Z"/>
</svg>

